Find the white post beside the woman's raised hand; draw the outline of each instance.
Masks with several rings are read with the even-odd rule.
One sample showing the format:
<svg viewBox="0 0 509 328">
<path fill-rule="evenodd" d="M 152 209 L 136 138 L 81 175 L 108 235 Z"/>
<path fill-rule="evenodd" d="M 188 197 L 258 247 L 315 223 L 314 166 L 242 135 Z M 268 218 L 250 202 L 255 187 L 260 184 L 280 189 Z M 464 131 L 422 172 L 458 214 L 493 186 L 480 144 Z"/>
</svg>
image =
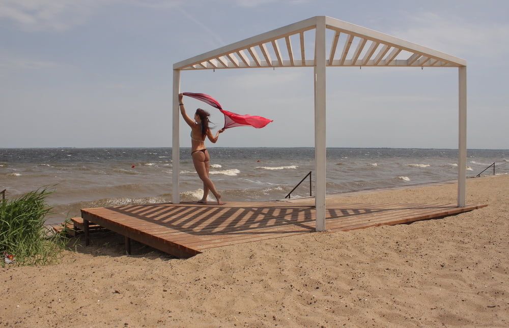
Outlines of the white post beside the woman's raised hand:
<svg viewBox="0 0 509 328">
<path fill-rule="evenodd" d="M 173 70 L 173 139 L 172 139 L 172 203 L 180 203 L 180 141 L 179 141 L 179 93 L 180 93 L 180 70 Z"/>
</svg>

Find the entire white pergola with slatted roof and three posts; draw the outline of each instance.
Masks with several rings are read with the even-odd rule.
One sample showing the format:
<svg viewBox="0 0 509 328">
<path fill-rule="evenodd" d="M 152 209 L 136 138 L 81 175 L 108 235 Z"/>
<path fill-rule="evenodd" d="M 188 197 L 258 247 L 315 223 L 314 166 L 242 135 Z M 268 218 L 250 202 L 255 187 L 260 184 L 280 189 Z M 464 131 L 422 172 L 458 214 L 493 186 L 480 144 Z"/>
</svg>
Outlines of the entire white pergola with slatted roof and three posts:
<svg viewBox="0 0 509 328">
<path fill-rule="evenodd" d="M 306 53 L 304 32 L 315 30 L 315 49 Z M 326 39 L 327 30 L 333 32 Z M 329 32 L 332 35 L 332 32 Z M 312 32 L 311 32 L 312 33 Z M 307 33 L 309 35 L 309 32 Z M 292 39 L 294 46 L 292 47 Z M 341 40 L 341 42 L 340 42 Z M 299 45 L 296 45 L 297 42 Z M 330 43 L 327 57 L 326 45 Z M 282 46 L 280 47 L 280 44 Z M 300 56 L 299 56 L 300 52 Z M 402 58 L 403 57 L 403 58 Z M 313 67 L 315 80 L 316 231 L 325 230 L 325 68 L 431 67 L 458 68 L 458 207 L 465 206 L 467 62 L 369 28 L 327 16 L 315 16 L 232 43 L 173 65 L 173 203 L 180 203 L 179 105 L 180 72 L 220 69 Z"/>
</svg>

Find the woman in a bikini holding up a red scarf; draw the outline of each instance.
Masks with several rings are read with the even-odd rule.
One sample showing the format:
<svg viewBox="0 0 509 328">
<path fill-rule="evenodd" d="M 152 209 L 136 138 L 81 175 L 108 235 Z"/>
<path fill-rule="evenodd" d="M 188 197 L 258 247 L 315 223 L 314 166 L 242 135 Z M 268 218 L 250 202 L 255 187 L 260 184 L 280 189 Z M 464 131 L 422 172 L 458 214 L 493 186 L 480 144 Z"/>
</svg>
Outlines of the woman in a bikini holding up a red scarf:
<svg viewBox="0 0 509 328">
<path fill-rule="evenodd" d="M 212 131 L 209 128 L 209 116 L 210 114 L 203 109 L 197 109 L 194 114 L 194 121 L 187 116 L 182 102 L 183 94 L 179 94 L 179 107 L 182 117 L 186 123 L 191 127 L 191 157 L 194 164 L 194 168 L 198 173 L 198 176 L 203 181 L 203 198 L 198 203 L 207 204 L 207 195 L 209 190 L 214 194 L 217 204 L 223 205 L 221 202 L 221 195 L 217 192 L 214 183 L 209 178 L 210 168 L 210 156 L 209 151 L 205 148 L 205 136 L 209 138 L 212 143 L 216 143 L 219 138 L 219 134 L 224 132 L 220 129 L 215 136 L 212 136 Z"/>
</svg>

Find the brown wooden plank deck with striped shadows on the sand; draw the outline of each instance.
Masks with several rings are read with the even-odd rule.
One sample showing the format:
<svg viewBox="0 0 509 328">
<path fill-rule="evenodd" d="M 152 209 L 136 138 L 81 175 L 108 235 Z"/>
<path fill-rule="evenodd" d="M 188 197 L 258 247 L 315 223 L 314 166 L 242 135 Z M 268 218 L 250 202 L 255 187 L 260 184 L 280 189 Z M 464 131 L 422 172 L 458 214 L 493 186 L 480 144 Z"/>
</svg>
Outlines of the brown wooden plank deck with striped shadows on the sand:
<svg viewBox="0 0 509 328">
<path fill-rule="evenodd" d="M 345 201 L 344 199 L 342 201 Z M 177 257 L 208 248 L 280 238 L 315 231 L 314 199 L 273 202 L 229 202 L 223 206 L 149 204 L 81 210 L 86 244 L 89 222 Z M 486 205 L 345 204 L 327 200 L 330 232 L 392 225 L 459 214 Z"/>
</svg>

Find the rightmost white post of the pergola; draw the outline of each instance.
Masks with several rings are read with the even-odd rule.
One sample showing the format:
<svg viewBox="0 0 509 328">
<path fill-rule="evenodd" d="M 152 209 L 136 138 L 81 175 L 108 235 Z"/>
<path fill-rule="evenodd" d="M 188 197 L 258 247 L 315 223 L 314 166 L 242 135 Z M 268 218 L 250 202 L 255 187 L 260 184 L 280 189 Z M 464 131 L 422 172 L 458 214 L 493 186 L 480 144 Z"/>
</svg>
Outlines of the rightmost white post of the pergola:
<svg viewBox="0 0 509 328">
<path fill-rule="evenodd" d="M 465 206 L 467 182 L 467 67 L 458 68 L 458 207 Z"/>
</svg>

